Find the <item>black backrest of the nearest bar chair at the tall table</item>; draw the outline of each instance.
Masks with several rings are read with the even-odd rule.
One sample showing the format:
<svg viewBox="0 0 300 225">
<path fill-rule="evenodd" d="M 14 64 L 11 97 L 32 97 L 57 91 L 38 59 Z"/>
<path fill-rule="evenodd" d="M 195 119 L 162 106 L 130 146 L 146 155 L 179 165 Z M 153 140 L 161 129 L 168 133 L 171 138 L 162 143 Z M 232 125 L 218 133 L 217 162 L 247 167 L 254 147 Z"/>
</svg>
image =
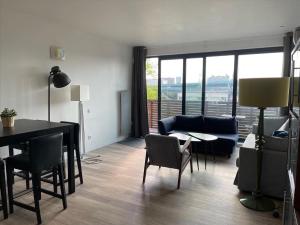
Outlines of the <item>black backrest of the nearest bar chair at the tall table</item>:
<svg viewBox="0 0 300 225">
<path fill-rule="evenodd" d="M 50 134 L 30 140 L 29 159 L 31 172 L 42 172 L 62 163 L 63 134 Z"/>
</svg>

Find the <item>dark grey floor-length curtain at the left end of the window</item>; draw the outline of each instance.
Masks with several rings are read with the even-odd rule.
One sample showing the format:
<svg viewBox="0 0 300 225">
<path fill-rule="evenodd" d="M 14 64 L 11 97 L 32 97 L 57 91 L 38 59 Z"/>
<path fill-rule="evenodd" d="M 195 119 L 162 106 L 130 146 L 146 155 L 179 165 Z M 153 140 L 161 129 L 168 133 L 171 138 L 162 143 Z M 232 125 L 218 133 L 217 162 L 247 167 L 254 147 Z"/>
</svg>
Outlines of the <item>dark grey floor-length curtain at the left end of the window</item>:
<svg viewBox="0 0 300 225">
<path fill-rule="evenodd" d="M 131 91 L 131 136 L 145 137 L 149 133 L 146 55 L 144 46 L 133 48 L 132 91 Z"/>
</svg>

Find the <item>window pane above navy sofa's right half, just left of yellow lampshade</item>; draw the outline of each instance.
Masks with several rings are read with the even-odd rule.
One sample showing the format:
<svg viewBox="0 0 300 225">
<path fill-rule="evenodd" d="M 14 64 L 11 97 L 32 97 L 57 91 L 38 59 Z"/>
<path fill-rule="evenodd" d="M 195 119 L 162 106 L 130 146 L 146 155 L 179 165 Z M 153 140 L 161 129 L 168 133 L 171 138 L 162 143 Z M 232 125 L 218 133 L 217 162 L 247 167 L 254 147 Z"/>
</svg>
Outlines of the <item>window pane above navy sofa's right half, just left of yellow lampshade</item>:
<svg viewBox="0 0 300 225">
<path fill-rule="evenodd" d="M 234 56 L 206 58 L 205 115 L 232 115 Z"/>
</svg>

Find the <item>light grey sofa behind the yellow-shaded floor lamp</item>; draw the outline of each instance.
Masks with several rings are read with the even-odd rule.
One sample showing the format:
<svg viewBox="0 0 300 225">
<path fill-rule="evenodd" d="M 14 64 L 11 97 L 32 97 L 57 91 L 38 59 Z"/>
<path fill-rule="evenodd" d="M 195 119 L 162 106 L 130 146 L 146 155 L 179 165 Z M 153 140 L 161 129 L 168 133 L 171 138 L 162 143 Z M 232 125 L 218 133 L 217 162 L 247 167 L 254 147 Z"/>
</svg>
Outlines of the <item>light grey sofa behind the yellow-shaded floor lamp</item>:
<svg viewBox="0 0 300 225">
<path fill-rule="evenodd" d="M 263 161 L 261 174 L 261 192 L 271 197 L 283 198 L 287 173 L 288 138 L 274 137 L 275 130 L 288 130 L 286 117 L 265 118 L 265 143 L 263 145 Z M 254 191 L 256 188 L 256 124 L 240 147 L 236 165 L 239 168 L 234 184 L 241 191 Z"/>
</svg>

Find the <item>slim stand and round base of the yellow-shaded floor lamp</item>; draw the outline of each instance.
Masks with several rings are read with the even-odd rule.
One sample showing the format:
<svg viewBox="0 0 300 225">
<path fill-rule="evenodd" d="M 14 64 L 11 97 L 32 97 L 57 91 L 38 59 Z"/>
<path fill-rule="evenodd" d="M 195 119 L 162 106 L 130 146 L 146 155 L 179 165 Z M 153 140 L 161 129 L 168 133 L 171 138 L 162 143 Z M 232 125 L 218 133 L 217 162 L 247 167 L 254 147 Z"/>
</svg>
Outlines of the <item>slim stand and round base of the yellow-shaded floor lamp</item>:
<svg viewBox="0 0 300 225">
<path fill-rule="evenodd" d="M 261 171 L 262 171 L 262 157 L 263 157 L 263 145 L 264 145 L 264 107 L 259 107 L 259 120 L 258 120 L 258 129 L 257 135 L 258 138 L 255 141 L 255 148 L 256 148 L 256 189 L 252 192 L 251 196 L 247 196 L 245 198 L 241 198 L 240 202 L 243 206 L 253 209 L 256 211 L 272 211 L 275 209 L 274 202 L 264 197 L 261 194 L 260 190 L 260 182 L 261 182 Z"/>
</svg>

